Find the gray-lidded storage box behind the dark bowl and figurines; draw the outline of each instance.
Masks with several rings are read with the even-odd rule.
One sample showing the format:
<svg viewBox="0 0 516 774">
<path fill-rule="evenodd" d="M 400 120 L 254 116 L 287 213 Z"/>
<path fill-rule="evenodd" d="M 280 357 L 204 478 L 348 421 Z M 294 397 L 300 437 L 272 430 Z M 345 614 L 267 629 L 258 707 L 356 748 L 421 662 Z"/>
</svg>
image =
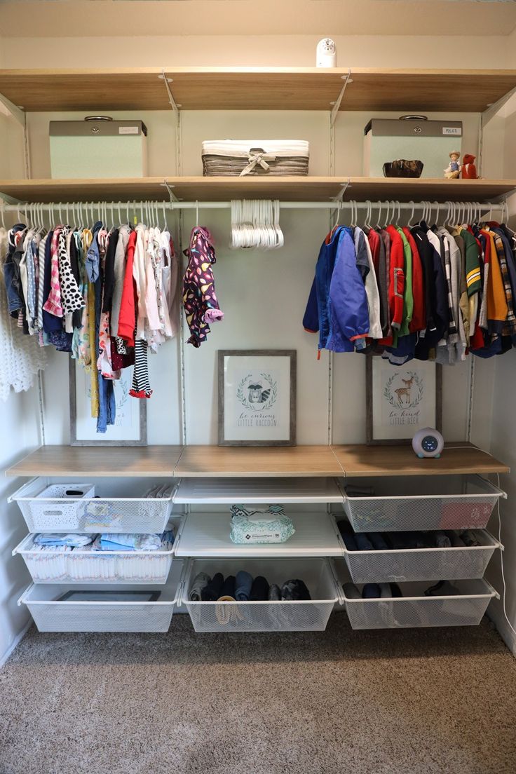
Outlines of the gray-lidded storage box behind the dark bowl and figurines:
<svg viewBox="0 0 516 774">
<path fill-rule="evenodd" d="M 444 177 L 449 153 L 461 149 L 461 121 L 429 121 L 424 116 L 372 118 L 364 128 L 364 175 L 383 177 L 385 162 L 419 159 L 422 177 Z"/>
</svg>

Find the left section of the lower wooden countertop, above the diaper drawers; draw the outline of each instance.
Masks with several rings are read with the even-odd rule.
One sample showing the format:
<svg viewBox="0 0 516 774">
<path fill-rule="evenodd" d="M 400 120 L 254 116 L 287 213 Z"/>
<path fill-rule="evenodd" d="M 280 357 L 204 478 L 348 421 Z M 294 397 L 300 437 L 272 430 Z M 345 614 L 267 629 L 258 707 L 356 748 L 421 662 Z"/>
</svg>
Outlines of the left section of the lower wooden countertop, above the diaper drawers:
<svg viewBox="0 0 516 774">
<path fill-rule="evenodd" d="M 183 447 L 42 446 L 24 457 L 8 476 L 164 476 L 172 478 Z"/>
</svg>

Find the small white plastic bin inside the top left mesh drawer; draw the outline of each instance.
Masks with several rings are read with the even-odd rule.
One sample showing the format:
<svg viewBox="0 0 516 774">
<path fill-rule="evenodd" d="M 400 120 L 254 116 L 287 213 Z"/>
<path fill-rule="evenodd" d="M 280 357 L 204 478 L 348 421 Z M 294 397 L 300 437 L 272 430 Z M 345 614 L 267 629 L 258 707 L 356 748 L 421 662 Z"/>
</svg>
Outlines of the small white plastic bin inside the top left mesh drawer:
<svg viewBox="0 0 516 774">
<path fill-rule="evenodd" d="M 21 491 L 21 490 L 19 490 Z M 79 494 L 67 495 L 67 492 Z M 19 492 L 12 495 L 13 499 Z M 78 529 L 81 514 L 84 512 L 84 500 L 93 498 L 95 488 L 92 484 L 47 484 L 32 496 L 30 519 L 32 529 L 44 532 L 53 529 L 53 524 L 59 522 L 61 529 Z M 19 503 L 23 515 L 26 502 Z"/>
</svg>

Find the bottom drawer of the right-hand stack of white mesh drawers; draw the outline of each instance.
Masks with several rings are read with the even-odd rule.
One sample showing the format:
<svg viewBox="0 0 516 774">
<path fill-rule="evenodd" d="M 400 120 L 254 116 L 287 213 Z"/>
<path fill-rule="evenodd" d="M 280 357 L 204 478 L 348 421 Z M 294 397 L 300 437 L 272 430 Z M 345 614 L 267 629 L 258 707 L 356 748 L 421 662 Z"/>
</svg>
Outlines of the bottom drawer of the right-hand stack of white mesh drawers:
<svg viewBox="0 0 516 774">
<path fill-rule="evenodd" d="M 343 601 L 351 628 L 417 628 L 427 626 L 477 626 L 497 591 L 487 580 L 457 580 L 456 596 L 425 597 L 427 581 L 400 584 L 403 597 Z M 358 590 L 362 589 L 359 586 Z"/>
</svg>

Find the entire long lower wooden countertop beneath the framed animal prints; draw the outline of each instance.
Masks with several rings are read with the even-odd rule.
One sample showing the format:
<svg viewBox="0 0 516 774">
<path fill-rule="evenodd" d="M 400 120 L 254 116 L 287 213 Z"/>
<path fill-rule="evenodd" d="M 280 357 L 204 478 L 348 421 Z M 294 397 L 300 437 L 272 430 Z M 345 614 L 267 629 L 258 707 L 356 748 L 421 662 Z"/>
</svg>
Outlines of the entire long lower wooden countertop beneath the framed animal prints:
<svg viewBox="0 0 516 774">
<path fill-rule="evenodd" d="M 439 460 L 419 460 L 410 446 L 69 447 L 43 446 L 8 476 L 155 476 L 294 478 L 508 473 L 472 444 L 449 444 Z M 87 478 L 85 479 L 87 481 Z"/>
</svg>

